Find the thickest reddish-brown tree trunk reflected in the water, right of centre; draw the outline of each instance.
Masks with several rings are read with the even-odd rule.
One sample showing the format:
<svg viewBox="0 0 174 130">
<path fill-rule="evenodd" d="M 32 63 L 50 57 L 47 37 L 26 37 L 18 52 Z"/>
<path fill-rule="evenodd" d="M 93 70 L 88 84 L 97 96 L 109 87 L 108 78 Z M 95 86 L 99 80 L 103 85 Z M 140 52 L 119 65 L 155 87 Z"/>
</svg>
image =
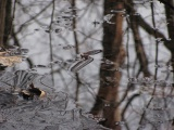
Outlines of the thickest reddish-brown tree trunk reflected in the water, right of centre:
<svg viewBox="0 0 174 130">
<path fill-rule="evenodd" d="M 111 10 L 122 10 L 124 4 L 122 0 L 105 0 L 104 1 L 104 15 L 110 14 Z M 122 13 L 116 13 L 111 22 L 114 24 L 103 23 L 103 58 L 110 60 L 114 65 L 105 66 L 101 64 L 100 68 L 100 89 L 96 100 L 96 104 L 91 109 L 91 114 L 99 116 L 102 114 L 105 120 L 103 126 L 112 129 L 120 130 L 121 127 L 115 125 L 120 121 L 119 102 L 119 86 L 122 73 L 117 72 L 124 63 L 125 51 L 122 44 Z M 111 79 L 111 80 L 108 80 Z"/>
</svg>

